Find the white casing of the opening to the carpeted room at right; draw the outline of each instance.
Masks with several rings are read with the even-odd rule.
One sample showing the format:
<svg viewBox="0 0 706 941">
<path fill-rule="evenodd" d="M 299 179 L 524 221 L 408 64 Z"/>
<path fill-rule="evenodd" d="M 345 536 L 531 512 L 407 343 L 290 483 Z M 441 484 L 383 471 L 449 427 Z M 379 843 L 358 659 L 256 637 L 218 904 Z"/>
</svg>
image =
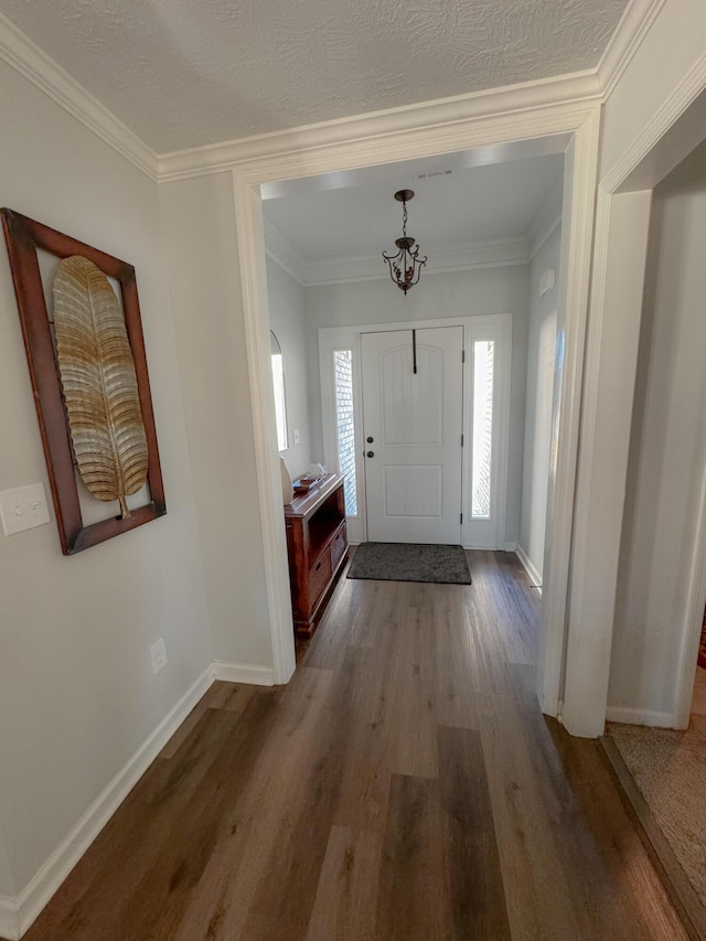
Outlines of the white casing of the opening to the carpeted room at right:
<svg viewBox="0 0 706 941">
<path fill-rule="evenodd" d="M 706 55 L 598 186 L 566 646 L 566 688 L 580 695 L 567 697 L 563 712 L 574 735 L 601 735 L 606 723 L 652 190 L 700 143 L 704 127 Z M 688 725 L 706 599 L 706 473 L 694 512 L 680 666 L 666 677 L 675 689 L 671 724 L 678 728 Z"/>
</svg>

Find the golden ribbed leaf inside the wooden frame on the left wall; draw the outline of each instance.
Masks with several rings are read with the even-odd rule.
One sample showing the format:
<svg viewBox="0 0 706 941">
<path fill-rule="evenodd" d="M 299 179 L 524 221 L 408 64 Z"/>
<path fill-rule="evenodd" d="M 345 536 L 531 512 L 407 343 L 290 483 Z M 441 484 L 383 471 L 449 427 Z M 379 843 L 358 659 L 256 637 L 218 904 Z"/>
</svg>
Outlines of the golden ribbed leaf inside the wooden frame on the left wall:
<svg viewBox="0 0 706 941">
<path fill-rule="evenodd" d="M 110 282 L 88 258 L 62 259 L 54 275 L 56 357 L 82 480 L 103 501 L 126 498 L 147 480 L 147 437 L 122 311 Z"/>
</svg>

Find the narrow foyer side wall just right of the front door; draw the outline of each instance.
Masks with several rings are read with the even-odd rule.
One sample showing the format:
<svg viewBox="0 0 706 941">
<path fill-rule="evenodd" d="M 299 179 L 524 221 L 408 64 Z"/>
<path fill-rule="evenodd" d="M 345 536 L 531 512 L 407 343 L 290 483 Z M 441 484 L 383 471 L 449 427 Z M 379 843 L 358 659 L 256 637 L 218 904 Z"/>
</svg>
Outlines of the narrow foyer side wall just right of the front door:
<svg viewBox="0 0 706 941">
<path fill-rule="evenodd" d="M 558 226 L 530 265 L 520 548 L 538 576 L 538 584 L 542 584 L 544 567 L 560 249 L 561 226 Z M 555 286 L 544 297 L 539 297 L 539 279 L 550 268 L 556 272 Z"/>
</svg>

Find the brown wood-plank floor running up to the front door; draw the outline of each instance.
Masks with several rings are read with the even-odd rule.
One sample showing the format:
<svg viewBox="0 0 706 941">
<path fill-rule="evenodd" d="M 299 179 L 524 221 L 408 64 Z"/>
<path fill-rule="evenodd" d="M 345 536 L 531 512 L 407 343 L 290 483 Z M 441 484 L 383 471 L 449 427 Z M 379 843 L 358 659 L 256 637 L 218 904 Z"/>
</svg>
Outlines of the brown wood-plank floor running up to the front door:
<svg viewBox="0 0 706 941">
<path fill-rule="evenodd" d="M 687 934 L 593 741 L 545 720 L 515 557 L 342 579 L 282 688 L 216 683 L 26 941 Z"/>
</svg>

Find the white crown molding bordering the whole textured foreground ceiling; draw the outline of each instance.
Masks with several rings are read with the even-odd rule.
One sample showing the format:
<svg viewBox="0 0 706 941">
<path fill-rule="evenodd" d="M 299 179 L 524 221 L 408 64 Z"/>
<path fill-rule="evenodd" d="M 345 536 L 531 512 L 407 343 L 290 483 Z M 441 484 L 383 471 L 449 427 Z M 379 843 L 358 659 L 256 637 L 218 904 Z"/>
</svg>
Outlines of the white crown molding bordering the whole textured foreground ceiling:
<svg viewBox="0 0 706 941">
<path fill-rule="evenodd" d="M 553 105 L 577 106 L 581 103 L 589 105 L 603 101 L 640 47 L 664 2 L 630 0 L 598 66 L 592 69 L 161 156 L 154 153 L 3 14 L 0 14 L 0 58 L 151 180 L 168 182 L 235 168 L 244 169 L 244 165 L 267 157 L 276 158 L 280 165 L 289 157 L 288 172 L 291 179 L 317 172 L 307 167 L 301 158 L 304 152 L 311 154 L 312 150 L 319 148 L 367 142 L 371 146 L 370 157 L 376 142 L 389 135 L 414 135 L 429 126 L 452 126 L 459 121 L 524 111 L 546 114 L 546 108 Z M 437 147 L 435 152 L 440 150 L 442 146 Z"/>
</svg>

